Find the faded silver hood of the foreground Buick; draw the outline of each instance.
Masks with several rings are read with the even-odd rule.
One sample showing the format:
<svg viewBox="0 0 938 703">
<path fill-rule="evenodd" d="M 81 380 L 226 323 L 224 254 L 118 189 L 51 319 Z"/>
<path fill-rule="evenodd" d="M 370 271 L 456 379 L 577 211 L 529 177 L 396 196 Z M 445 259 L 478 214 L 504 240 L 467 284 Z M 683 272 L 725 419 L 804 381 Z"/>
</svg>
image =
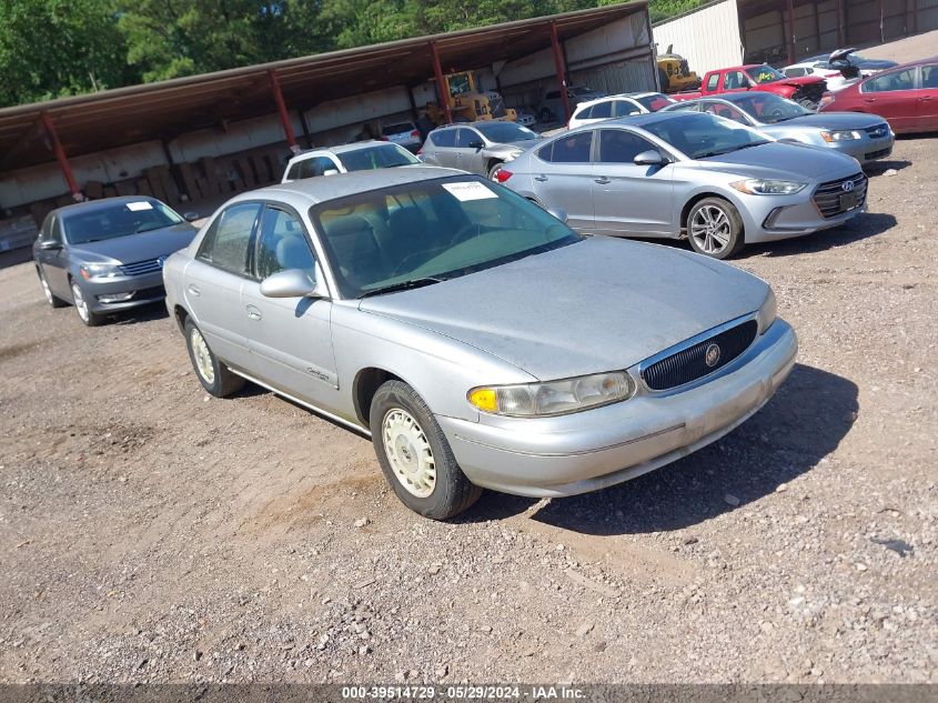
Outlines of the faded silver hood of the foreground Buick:
<svg viewBox="0 0 938 703">
<path fill-rule="evenodd" d="M 458 279 L 362 301 L 533 376 L 628 368 L 757 310 L 766 284 L 668 247 L 595 237 Z"/>
</svg>

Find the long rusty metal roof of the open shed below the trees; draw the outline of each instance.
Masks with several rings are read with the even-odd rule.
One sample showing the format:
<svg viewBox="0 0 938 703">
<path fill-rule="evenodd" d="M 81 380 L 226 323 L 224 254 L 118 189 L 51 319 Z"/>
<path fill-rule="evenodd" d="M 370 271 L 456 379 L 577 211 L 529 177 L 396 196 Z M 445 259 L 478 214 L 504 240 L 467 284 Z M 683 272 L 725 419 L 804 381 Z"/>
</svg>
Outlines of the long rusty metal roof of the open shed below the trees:
<svg viewBox="0 0 938 703">
<path fill-rule="evenodd" d="M 317 103 L 433 78 L 430 42 L 444 72 L 510 61 L 635 12 L 647 0 L 493 24 L 383 44 L 204 73 L 0 110 L 0 171 L 53 159 L 41 113 L 48 112 L 70 157 L 148 141 L 171 140 L 204 127 L 276 111 L 270 72 L 288 108 Z"/>
</svg>

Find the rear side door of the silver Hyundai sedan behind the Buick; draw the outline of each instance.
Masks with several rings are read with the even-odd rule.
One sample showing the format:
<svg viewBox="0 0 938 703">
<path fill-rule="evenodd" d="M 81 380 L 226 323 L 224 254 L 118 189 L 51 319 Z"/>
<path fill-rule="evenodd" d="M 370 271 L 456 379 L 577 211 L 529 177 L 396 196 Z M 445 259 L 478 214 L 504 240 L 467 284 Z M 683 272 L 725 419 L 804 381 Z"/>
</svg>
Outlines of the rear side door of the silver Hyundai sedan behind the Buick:
<svg viewBox="0 0 938 703">
<path fill-rule="evenodd" d="M 591 163 L 593 132 L 577 132 L 561 138 L 533 158 L 532 184 L 537 199 L 547 208 L 562 208 L 567 213 L 567 224 L 581 232 L 593 232 L 593 164 Z M 544 153 L 551 149 L 551 154 Z"/>
</svg>

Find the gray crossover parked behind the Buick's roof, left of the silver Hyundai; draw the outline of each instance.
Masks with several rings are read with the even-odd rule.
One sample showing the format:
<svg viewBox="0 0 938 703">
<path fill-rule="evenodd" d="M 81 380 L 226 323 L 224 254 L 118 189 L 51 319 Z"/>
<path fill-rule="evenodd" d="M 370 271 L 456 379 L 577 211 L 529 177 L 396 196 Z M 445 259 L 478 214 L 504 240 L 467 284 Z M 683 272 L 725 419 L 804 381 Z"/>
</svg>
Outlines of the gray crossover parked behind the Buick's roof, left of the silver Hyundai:
<svg viewBox="0 0 938 703">
<path fill-rule="evenodd" d="M 502 165 L 537 142 L 536 132 L 514 122 L 447 124 L 433 130 L 418 154 L 424 163 L 462 169 L 492 180 Z"/>
</svg>

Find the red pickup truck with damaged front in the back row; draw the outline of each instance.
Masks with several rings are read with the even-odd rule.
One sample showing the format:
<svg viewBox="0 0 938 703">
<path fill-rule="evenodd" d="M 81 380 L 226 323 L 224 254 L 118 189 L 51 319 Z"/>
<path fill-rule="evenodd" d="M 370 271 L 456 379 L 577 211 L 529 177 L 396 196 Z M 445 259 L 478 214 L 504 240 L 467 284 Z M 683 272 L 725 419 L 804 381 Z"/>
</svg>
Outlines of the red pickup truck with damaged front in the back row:
<svg viewBox="0 0 938 703">
<path fill-rule="evenodd" d="M 693 100 L 717 93 L 765 90 L 799 102 L 809 110 L 816 110 L 820 97 L 827 90 L 827 82 L 817 76 L 788 78 L 770 66 L 753 63 L 710 71 L 704 77 L 699 91 L 674 93 L 677 100 Z"/>
</svg>

